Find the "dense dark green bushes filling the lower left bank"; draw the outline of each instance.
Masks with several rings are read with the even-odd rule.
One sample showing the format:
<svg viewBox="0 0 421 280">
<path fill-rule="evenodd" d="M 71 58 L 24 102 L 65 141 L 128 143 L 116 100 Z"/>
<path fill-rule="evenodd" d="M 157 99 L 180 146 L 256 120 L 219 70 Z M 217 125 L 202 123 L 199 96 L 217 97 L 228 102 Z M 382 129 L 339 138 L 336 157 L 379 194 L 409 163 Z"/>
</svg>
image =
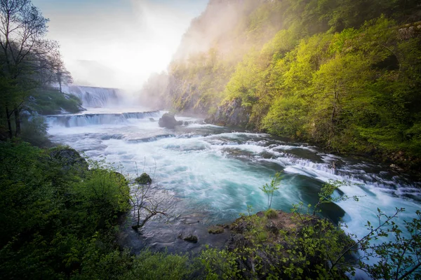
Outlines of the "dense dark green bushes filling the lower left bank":
<svg viewBox="0 0 421 280">
<path fill-rule="evenodd" d="M 0 154 L 2 276 L 66 278 L 112 250 L 116 217 L 129 207 L 122 176 L 88 170 L 69 148 L 1 143 Z"/>
</svg>

